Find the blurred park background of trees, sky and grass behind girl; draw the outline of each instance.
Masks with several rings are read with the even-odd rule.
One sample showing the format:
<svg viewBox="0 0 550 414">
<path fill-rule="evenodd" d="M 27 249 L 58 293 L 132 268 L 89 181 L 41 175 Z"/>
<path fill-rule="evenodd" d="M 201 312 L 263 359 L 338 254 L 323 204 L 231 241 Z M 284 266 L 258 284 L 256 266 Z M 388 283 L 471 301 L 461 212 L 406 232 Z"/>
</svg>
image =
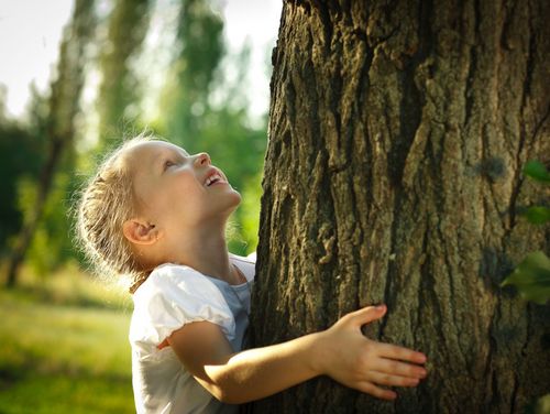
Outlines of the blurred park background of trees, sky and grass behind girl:
<svg viewBox="0 0 550 414">
<path fill-rule="evenodd" d="M 143 131 L 206 151 L 255 250 L 280 0 L 0 2 L 0 413 L 132 413 L 131 296 L 88 271 L 75 190 Z"/>
</svg>

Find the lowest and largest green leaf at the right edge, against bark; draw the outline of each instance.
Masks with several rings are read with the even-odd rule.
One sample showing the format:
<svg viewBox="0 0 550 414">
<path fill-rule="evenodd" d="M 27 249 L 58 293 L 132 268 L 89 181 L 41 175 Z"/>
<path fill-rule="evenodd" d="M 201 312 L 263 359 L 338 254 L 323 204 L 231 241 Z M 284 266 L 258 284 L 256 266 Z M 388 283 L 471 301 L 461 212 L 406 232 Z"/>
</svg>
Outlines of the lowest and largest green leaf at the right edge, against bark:
<svg viewBox="0 0 550 414">
<path fill-rule="evenodd" d="M 542 251 L 535 251 L 501 283 L 514 285 L 526 299 L 543 305 L 550 299 L 550 259 Z"/>
</svg>

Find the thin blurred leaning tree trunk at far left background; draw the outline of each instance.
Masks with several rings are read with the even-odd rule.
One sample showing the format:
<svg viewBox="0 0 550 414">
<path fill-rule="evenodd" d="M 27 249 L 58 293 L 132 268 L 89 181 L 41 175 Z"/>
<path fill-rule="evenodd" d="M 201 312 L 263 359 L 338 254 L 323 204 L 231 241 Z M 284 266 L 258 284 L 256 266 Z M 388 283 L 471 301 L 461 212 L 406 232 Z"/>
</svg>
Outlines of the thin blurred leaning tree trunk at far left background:
<svg viewBox="0 0 550 414">
<path fill-rule="evenodd" d="M 16 284 L 21 263 L 41 220 L 56 170 L 64 153 L 73 145 L 74 118 L 78 112 L 84 85 L 85 48 L 94 32 L 94 1 L 78 0 L 70 25 L 64 33 L 57 65 L 58 76 L 52 84 L 46 129 L 48 154 L 37 183 L 36 201 L 11 252 L 6 282 L 8 287 Z"/>
</svg>

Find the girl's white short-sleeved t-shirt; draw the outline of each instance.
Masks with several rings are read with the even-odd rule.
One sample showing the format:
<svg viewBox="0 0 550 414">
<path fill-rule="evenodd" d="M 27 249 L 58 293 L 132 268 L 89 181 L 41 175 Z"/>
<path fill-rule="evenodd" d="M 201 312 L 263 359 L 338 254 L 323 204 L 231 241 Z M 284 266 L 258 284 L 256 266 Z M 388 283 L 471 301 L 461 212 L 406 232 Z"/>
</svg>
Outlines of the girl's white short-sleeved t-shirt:
<svg viewBox="0 0 550 414">
<path fill-rule="evenodd" d="M 230 255 L 248 283 L 230 285 L 189 266 L 167 263 L 156 268 L 135 291 L 130 344 L 139 414 L 238 412 L 237 405 L 223 404 L 206 391 L 185 370 L 172 347 L 157 346 L 185 324 L 208 320 L 219 325 L 233 350 L 240 351 L 255 273 L 255 258 L 249 258 Z"/>
</svg>

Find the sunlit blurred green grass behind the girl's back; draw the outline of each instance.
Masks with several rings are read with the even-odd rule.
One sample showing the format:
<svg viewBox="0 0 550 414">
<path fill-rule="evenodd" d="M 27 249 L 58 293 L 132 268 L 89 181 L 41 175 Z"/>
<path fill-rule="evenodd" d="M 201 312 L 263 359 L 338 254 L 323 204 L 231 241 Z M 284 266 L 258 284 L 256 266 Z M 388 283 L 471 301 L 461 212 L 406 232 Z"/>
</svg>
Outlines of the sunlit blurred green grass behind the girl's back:
<svg viewBox="0 0 550 414">
<path fill-rule="evenodd" d="M 74 268 L 0 290 L 0 413 L 133 413 L 131 303 Z"/>
</svg>

